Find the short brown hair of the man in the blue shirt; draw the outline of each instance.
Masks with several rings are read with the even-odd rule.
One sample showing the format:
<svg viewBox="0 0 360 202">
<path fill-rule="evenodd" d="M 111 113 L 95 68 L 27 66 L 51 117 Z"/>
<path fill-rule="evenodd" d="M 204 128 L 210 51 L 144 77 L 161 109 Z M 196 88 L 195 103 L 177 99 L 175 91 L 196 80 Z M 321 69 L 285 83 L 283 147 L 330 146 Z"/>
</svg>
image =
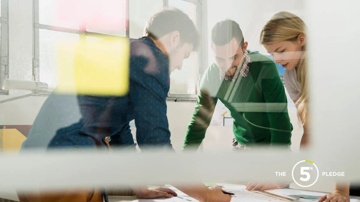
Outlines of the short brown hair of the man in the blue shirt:
<svg viewBox="0 0 360 202">
<path fill-rule="evenodd" d="M 168 33 L 178 31 L 181 42 L 191 43 L 194 50 L 200 44 L 200 36 L 193 21 L 179 9 L 165 9 L 154 14 L 146 23 L 144 35 L 159 39 Z"/>
</svg>

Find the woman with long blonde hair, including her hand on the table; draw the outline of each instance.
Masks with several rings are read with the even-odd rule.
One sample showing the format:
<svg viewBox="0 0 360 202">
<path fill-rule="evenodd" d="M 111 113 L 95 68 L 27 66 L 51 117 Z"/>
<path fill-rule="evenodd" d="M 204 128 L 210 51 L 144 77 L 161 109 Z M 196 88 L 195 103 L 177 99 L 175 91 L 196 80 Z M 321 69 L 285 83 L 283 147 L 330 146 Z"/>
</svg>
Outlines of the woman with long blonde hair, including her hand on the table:
<svg viewBox="0 0 360 202">
<path fill-rule="evenodd" d="M 285 87 L 296 105 L 298 119 L 304 129 L 300 143 L 302 148 L 309 143 L 305 23 L 292 13 L 276 13 L 262 29 L 260 43 L 271 54 L 275 63 L 281 64 L 286 69 L 284 73 Z M 349 185 L 337 183 L 334 192 L 321 197 L 319 201 L 328 202 L 330 200 L 331 202 L 350 201 Z"/>
</svg>

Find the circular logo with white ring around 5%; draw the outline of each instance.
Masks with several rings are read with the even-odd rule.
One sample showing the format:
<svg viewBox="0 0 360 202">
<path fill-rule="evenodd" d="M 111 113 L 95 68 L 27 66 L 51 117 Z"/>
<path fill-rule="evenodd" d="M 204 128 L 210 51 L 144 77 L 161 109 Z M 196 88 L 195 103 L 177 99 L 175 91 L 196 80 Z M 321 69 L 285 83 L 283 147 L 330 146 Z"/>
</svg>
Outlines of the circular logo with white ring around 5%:
<svg viewBox="0 0 360 202">
<path fill-rule="evenodd" d="M 300 187 L 310 187 L 318 181 L 319 169 L 315 163 L 302 160 L 294 165 L 291 175 Z"/>
</svg>

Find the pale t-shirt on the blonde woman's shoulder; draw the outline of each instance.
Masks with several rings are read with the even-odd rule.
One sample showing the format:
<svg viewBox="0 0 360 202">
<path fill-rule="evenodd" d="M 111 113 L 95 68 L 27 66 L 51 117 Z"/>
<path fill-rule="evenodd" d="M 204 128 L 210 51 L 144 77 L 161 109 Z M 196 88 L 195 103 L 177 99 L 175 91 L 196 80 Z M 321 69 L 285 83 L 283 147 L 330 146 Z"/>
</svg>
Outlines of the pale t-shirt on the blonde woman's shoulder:
<svg viewBox="0 0 360 202">
<path fill-rule="evenodd" d="M 284 73 L 285 88 L 289 93 L 292 100 L 298 100 L 300 98 L 300 84 L 297 81 L 296 70 L 285 71 Z"/>
</svg>

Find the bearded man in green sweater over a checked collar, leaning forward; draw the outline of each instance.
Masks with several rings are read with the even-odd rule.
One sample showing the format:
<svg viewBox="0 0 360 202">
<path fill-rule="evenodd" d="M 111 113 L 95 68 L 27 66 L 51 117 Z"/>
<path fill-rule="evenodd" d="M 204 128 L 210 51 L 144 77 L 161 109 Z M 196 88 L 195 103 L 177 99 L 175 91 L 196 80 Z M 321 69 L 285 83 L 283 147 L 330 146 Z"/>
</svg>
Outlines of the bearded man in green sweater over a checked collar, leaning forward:
<svg viewBox="0 0 360 202">
<path fill-rule="evenodd" d="M 205 138 L 217 100 L 234 118 L 234 149 L 291 144 L 293 127 L 287 98 L 275 63 L 247 51 L 239 24 L 225 20 L 212 29 L 211 48 L 216 62 L 204 73 L 195 112 L 183 149 L 198 149 Z"/>
</svg>

